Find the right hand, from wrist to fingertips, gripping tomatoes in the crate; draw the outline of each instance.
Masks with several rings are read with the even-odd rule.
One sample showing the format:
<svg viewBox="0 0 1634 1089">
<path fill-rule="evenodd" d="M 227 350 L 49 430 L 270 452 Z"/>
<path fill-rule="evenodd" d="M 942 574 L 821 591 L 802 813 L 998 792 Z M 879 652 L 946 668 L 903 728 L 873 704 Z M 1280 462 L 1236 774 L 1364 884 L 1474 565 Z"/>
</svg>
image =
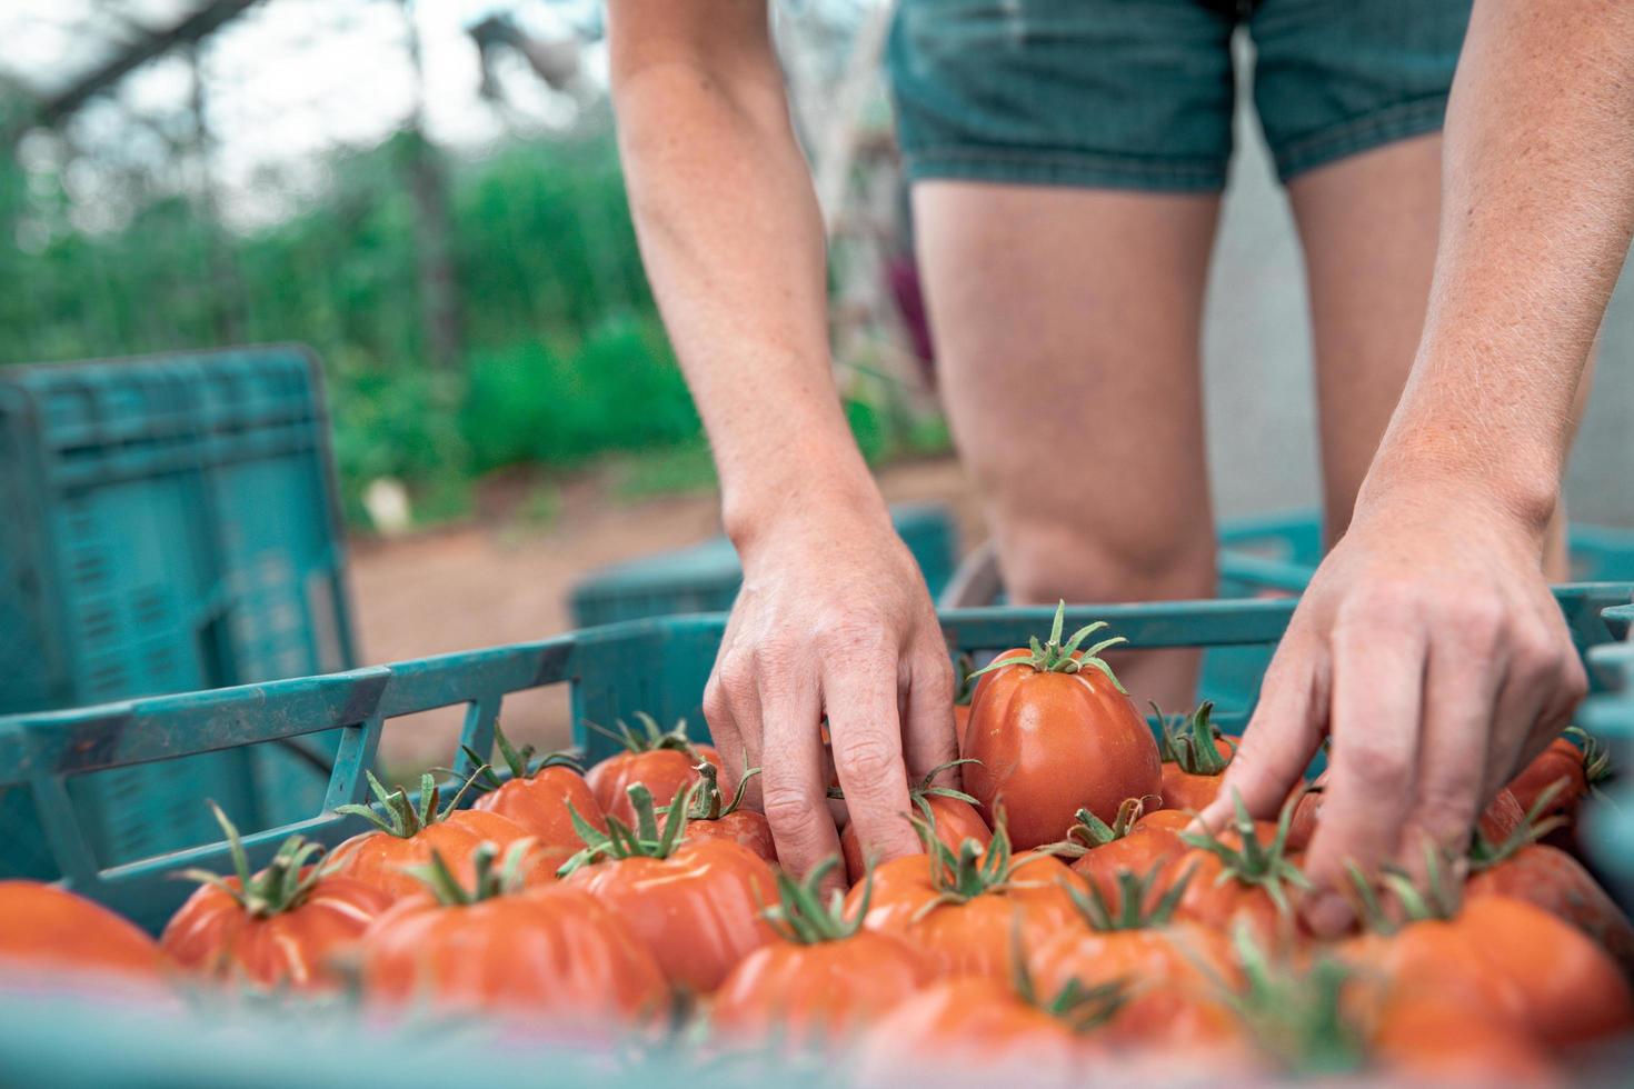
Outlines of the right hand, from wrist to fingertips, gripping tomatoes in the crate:
<svg viewBox="0 0 1634 1089">
<path fill-rule="evenodd" d="M 1306 854 L 1307 924 L 1346 929 L 1346 864 L 1423 873 L 1461 857 L 1482 807 L 1564 730 L 1587 676 L 1541 568 L 1542 527 L 1479 483 L 1415 480 L 1358 501 L 1310 580 L 1203 821 L 1232 792 L 1275 818 L 1324 735 L 1332 759 Z"/>
</svg>

